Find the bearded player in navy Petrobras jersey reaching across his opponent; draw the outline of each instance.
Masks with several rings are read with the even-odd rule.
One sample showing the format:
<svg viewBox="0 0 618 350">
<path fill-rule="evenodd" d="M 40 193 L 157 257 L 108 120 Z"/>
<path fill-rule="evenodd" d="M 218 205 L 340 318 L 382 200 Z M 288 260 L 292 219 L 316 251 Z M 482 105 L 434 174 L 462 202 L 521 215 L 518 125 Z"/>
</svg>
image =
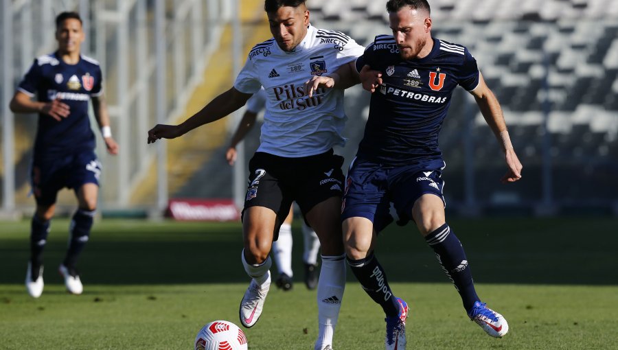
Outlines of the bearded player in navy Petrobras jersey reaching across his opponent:
<svg viewBox="0 0 618 350">
<path fill-rule="evenodd" d="M 387 2 L 392 35 L 376 36 L 356 61 L 380 73 L 361 72 L 363 87 L 373 94 L 365 135 L 346 178 L 342 205 L 347 260 L 363 289 L 387 316 L 386 349 L 405 349 L 407 304 L 396 298 L 384 269 L 374 254 L 374 240 L 393 221 L 392 202 L 399 224 L 414 220 L 437 259 L 455 284 L 471 320 L 494 337 L 508 331 L 506 320 L 481 303 L 464 248 L 444 214 L 445 167 L 438 134 L 457 85 L 470 92 L 485 121 L 499 139 L 507 173 L 502 181 L 521 178 L 520 164 L 510 142 L 501 106 L 466 47 L 431 36 L 432 21 L 426 0 Z M 339 77 L 314 78 L 332 87 Z"/>
</svg>

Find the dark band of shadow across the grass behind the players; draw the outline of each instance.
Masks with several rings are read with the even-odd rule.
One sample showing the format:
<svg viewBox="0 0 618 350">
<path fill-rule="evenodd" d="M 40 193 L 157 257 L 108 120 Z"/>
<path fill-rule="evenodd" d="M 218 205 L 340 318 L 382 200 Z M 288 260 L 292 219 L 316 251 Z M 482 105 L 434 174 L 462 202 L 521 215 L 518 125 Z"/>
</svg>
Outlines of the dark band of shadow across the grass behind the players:
<svg viewBox="0 0 618 350">
<path fill-rule="evenodd" d="M 297 220 L 298 222 L 299 220 Z M 618 220 L 613 218 L 485 218 L 451 220 L 477 283 L 615 285 Z M 0 234 L 0 283 L 23 283 L 28 222 Z M 66 220 L 54 221 L 45 248 L 45 282 L 67 247 Z M 293 228 L 295 281 L 303 278 L 302 237 Z M 587 233 L 587 234 L 586 234 Z M 80 259 L 89 284 L 181 284 L 248 281 L 240 263 L 240 224 L 102 220 Z M 391 282 L 448 281 L 414 226 L 391 225 L 376 255 Z M 272 270 L 276 275 L 275 267 Z M 348 280 L 356 281 L 348 272 Z"/>
</svg>

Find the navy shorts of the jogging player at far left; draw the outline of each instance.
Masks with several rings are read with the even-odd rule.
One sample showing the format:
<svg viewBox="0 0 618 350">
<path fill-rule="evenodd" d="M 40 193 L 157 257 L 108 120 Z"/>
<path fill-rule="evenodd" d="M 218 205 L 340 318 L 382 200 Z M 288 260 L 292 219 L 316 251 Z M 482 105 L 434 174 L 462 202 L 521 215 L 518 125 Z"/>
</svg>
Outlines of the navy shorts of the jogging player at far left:
<svg viewBox="0 0 618 350">
<path fill-rule="evenodd" d="M 30 180 L 38 205 L 53 205 L 58 191 L 65 187 L 77 191 L 85 183 L 99 185 L 101 163 L 93 150 L 32 159 Z"/>
</svg>

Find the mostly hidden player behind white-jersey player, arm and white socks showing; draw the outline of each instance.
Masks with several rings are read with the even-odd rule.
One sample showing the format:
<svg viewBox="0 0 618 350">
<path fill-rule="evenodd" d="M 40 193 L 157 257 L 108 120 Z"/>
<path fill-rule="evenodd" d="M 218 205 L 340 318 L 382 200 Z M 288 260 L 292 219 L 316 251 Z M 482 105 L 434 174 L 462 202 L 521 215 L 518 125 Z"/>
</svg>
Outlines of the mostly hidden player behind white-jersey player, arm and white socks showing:
<svg viewBox="0 0 618 350">
<path fill-rule="evenodd" d="M 266 91 L 260 89 L 257 93 L 253 94 L 249 100 L 247 100 L 247 109 L 242 115 L 240 124 L 236 128 L 236 132 L 229 143 L 229 148 L 225 153 L 229 165 L 233 165 L 236 162 L 236 145 L 247 136 L 247 133 L 255 121 L 258 119 L 258 113 L 266 105 Z M 282 290 L 290 290 L 293 287 L 292 277 L 294 272 L 292 271 L 292 221 L 294 217 L 294 209 L 290 207 L 290 213 L 288 214 L 284 223 L 279 227 L 279 239 L 273 242 L 273 258 L 279 271 L 279 276 L 275 280 L 277 288 Z M 303 240 L 304 240 L 304 252 L 303 262 L 305 265 L 305 285 L 308 289 L 313 290 L 317 287 L 317 254 L 320 249 L 320 241 L 306 222 L 302 224 Z"/>
</svg>

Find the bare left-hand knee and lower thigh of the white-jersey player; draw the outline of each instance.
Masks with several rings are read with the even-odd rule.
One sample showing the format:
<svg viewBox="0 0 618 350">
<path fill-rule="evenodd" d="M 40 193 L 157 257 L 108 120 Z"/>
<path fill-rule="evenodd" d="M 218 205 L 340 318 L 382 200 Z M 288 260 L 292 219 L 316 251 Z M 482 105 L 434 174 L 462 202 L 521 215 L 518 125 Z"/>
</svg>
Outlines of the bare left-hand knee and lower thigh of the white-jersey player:
<svg viewBox="0 0 618 350">
<path fill-rule="evenodd" d="M 273 244 L 277 215 L 272 209 L 253 206 L 245 209 L 242 220 L 244 256 L 249 264 L 261 264 Z"/>
</svg>

